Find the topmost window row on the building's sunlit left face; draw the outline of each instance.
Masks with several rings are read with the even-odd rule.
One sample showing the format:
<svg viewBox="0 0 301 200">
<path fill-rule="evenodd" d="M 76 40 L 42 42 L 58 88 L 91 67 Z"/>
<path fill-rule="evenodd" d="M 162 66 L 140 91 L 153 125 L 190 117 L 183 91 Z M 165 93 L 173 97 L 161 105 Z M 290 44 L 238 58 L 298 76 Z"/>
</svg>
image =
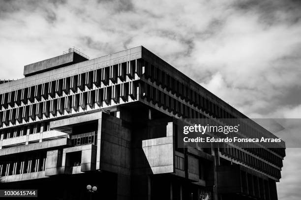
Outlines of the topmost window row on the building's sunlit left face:
<svg viewBox="0 0 301 200">
<path fill-rule="evenodd" d="M 132 60 L 130 62 L 104 67 L 79 75 L 51 81 L 49 83 L 3 93 L 0 94 L 0 110 L 2 110 L 2 108 L 8 109 L 8 105 L 11 108 L 21 106 L 21 102 L 27 105 L 29 103 L 34 103 L 35 101 L 39 102 L 42 98 L 48 100 L 49 97 L 55 98 L 56 95 L 62 96 L 63 92 L 66 95 L 69 95 L 71 91 L 72 93 L 85 91 L 86 87 L 92 89 L 93 85 L 97 87 L 101 86 L 101 84 L 103 86 L 108 86 L 109 81 L 113 84 L 117 84 L 118 79 L 121 82 L 125 82 L 126 77 L 133 80 L 135 74 L 140 76 L 141 72 L 141 60 Z"/>
</svg>

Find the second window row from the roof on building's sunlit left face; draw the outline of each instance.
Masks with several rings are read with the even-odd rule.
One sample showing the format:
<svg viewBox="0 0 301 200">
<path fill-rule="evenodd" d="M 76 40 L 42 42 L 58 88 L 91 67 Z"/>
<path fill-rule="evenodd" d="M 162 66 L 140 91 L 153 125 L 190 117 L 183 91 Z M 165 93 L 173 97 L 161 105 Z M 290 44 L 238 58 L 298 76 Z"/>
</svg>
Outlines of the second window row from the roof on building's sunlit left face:
<svg viewBox="0 0 301 200">
<path fill-rule="evenodd" d="M 111 100 L 115 103 L 120 103 L 120 99 L 126 102 L 129 100 L 129 97 L 136 99 L 136 94 L 137 84 L 135 82 L 127 82 L 67 95 L 57 99 L 1 111 L 0 126 L 2 126 L 3 123 L 9 126 L 10 123 L 14 125 L 16 122 L 29 122 L 30 118 L 35 120 L 36 117 L 42 119 L 49 118 L 50 115 L 57 116 L 58 113 L 72 113 L 72 110 L 78 112 L 80 107 L 83 110 L 87 110 L 88 106 L 93 109 L 95 108 L 95 103 L 99 107 L 102 107 L 103 102 L 107 105 L 111 105 Z"/>
</svg>

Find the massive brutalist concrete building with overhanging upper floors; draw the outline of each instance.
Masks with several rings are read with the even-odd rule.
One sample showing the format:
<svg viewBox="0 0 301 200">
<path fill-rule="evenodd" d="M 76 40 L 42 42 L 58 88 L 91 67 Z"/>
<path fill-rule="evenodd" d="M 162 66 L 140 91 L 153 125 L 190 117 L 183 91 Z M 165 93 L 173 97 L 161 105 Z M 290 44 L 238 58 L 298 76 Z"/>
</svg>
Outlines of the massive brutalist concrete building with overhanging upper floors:
<svg viewBox="0 0 301 200">
<path fill-rule="evenodd" d="M 277 200 L 283 148 L 178 148 L 179 118 L 246 116 L 140 46 L 0 84 L 0 189 L 38 199 Z"/>
</svg>

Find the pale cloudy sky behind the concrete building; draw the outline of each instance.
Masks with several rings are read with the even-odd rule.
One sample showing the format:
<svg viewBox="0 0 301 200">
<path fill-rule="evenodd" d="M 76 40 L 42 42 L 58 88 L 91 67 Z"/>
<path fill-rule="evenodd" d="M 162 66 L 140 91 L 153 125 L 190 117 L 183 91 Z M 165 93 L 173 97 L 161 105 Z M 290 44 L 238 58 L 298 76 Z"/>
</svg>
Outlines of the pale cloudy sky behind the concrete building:
<svg viewBox="0 0 301 200">
<path fill-rule="evenodd" d="M 0 0 L 0 79 L 76 46 L 90 58 L 143 45 L 249 117 L 301 118 L 301 1 Z M 279 200 L 300 200 L 287 149 Z"/>
</svg>

